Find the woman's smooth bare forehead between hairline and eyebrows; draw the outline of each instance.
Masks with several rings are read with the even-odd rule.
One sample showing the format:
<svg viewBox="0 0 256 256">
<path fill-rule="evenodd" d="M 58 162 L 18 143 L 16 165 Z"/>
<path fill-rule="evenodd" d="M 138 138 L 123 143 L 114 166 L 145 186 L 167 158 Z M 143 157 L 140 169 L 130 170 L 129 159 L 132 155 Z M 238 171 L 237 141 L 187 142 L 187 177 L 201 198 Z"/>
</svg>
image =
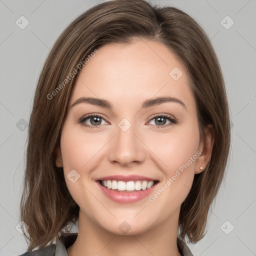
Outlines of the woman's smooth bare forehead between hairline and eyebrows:
<svg viewBox="0 0 256 256">
<path fill-rule="evenodd" d="M 114 107 L 154 96 L 194 104 L 182 62 L 164 44 L 150 40 L 98 48 L 77 74 L 69 105 L 82 96 L 105 98 Z"/>
</svg>

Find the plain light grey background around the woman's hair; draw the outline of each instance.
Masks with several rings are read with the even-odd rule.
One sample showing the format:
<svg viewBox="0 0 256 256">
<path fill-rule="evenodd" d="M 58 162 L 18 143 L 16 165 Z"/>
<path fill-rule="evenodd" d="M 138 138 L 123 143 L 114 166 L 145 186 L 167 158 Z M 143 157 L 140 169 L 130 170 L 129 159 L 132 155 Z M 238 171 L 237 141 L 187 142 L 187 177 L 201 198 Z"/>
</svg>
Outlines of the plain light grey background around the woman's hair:
<svg viewBox="0 0 256 256">
<path fill-rule="evenodd" d="M 0 0 L 0 255 L 18 255 L 27 248 L 15 227 L 26 123 L 39 72 L 61 31 L 100 2 Z M 194 255 L 256 255 L 256 1 L 153 2 L 179 7 L 211 38 L 224 74 L 233 124 L 230 163 L 210 212 L 208 232 L 196 245 L 188 246 Z M 21 15 L 29 21 L 24 29 L 15 23 Z M 234 21 L 228 29 L 223 26 L 231 24 L 230 19 L 223 19 L 226 15 Z"/>
</svg>

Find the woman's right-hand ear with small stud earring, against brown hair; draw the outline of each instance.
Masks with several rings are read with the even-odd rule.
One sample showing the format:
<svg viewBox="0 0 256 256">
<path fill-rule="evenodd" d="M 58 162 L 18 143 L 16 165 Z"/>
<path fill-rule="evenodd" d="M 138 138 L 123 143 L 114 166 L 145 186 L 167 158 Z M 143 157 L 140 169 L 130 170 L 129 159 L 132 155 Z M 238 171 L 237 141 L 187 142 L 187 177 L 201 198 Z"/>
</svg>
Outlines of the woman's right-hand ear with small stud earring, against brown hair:
<svg viewBox="0 0 256 256">
<path fill-rule="evenodd" d="M 194 174 L 202 172 L 210 161 L 214 144 L 214 129 L 212 124 L 208 124 L 207 127 L 204 128 L 204 134 L 204 139 L 202 138 L 199 143 L 198 151 L 201 152 L 201 154 L 196 159 Z M 200 167 L 202 167 L 202 169 L 200 169 Z"/>
</svg>

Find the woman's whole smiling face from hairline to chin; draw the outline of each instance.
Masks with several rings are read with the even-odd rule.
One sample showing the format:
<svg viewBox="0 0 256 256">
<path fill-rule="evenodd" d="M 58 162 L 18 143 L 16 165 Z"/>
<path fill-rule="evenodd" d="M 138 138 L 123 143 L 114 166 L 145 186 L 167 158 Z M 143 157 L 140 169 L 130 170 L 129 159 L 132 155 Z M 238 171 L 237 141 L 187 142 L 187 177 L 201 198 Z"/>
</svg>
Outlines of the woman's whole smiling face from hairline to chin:
<svg viewBox="0 0 256 256">
<path fill-rule="evenodd" d="M 77 101 L 83 97 L 94 100 Z M 170 99 L 155 100 L 161 97 Z M 135 234 L 177 222 L 203 164 L 199 142 L 195 100 L 177 57 L 154 41 L 107 44 L 76 77 L 56 165 L 79 218 Z"/>
</svg>

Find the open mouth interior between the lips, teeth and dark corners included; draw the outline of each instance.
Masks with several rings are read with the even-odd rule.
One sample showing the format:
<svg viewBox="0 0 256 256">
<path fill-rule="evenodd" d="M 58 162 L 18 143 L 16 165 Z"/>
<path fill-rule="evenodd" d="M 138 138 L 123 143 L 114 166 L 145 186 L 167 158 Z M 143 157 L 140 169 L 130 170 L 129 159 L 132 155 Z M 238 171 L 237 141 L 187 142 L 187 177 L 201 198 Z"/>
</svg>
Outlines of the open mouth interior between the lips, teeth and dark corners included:
<svg viewBox="0 0 256 256">
<path fill-rule="evenodd" d="M 97 180 L 97 182 L 110 190 L 115 192 L 124 192 L 124 193 L 131 193 L 131 192 L 138 192 L 141 190 L 147 190 L 157 184 L 158 180 L 115 180 L 115 179 L 104 179 L 104 180 Z"/>
</svg>

